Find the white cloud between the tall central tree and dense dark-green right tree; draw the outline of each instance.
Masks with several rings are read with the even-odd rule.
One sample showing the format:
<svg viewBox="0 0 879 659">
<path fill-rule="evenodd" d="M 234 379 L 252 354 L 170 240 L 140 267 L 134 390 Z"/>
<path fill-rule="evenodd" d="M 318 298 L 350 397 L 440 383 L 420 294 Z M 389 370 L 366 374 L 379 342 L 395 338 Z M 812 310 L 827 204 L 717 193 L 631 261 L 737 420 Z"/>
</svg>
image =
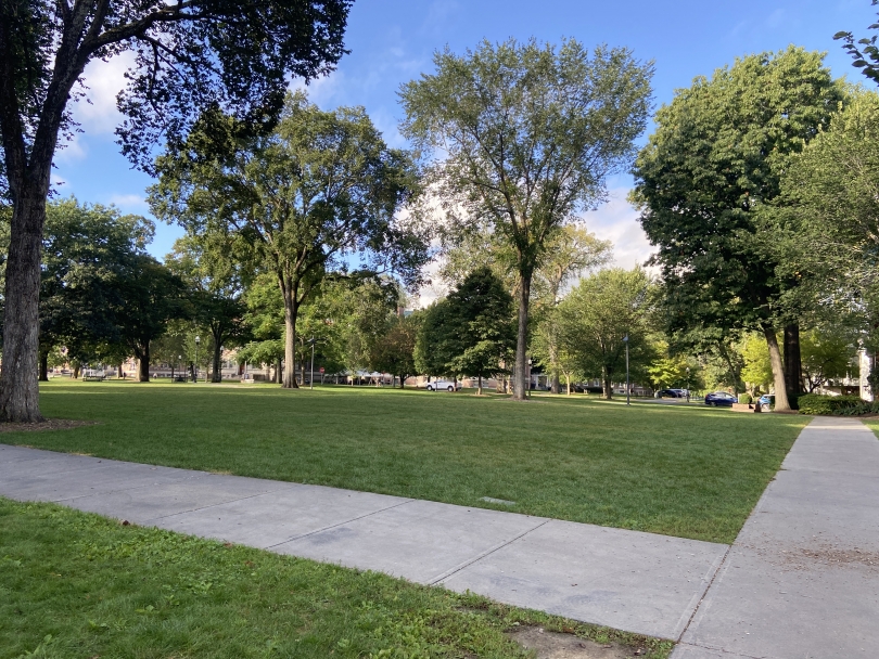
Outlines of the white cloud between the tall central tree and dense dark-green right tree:
<svg viewBox="0 0 879 659">
<path fill-rule="evenodd" d="M 603 241 L 613 242 L 613 263 L 630 269 L 644 266 L 653 248 L 638 223 L 638 211 L 626 201 L 628 190 L 610 191 L 610 201 L 583 216 L 586 228 Z"/>
</svg>

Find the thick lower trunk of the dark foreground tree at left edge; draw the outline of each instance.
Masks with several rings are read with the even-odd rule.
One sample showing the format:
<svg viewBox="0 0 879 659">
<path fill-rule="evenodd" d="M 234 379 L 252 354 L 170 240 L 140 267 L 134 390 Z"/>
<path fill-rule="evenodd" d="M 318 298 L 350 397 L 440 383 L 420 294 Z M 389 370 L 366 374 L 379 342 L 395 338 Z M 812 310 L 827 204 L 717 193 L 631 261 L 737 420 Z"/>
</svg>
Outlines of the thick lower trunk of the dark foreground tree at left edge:
<svg viewBox="0 0 879 659">
<path fill-rule="evenodd" d="M 7 258 L 0 421 L 37 423 L 42 421 L 37 352 L 47 191 L 26 184 L 17 192 Z"/>
</svg>

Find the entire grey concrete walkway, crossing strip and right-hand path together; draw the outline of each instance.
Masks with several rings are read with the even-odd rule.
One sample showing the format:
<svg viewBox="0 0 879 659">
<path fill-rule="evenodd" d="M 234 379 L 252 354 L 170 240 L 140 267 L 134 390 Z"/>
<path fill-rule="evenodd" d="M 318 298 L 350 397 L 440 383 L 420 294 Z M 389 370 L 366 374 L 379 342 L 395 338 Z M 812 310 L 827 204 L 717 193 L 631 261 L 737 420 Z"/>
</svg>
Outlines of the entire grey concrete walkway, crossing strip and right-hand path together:
<svg viewBox="0 0 879 659">
<path fill-rule="evenodd" d="M 3 444 L 0 495 L 679 639 L 674 659 L 879 648 L 879 441 L 853 419 L 803 431 L 731 547 Z"/>
</svg>

